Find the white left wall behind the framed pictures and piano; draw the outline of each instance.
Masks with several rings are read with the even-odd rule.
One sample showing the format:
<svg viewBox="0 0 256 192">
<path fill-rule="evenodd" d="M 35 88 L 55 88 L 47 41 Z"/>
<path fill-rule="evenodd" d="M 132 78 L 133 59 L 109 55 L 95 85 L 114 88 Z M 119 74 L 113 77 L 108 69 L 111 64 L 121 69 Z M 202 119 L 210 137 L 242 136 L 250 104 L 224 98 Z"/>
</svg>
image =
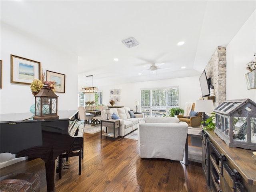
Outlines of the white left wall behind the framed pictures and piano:
<svg viewBox="0 0 256 192">
<path fill-rule="evenodd" d="M 1 23 L 0 59 L 3 62 L 3 82 L 0 89 L 1 114 L 30 112 L 29 108 L 34 104 L 34 96 L 29 85 L 10 83 L 10 54 L 41 62 L 44 71 L 65 74 L 65 93 L 56 93 L 59 96 L 58 110 L 77 110 L 77 56 L 58 50 L 38 38 Z M 15 155 L 8 153 L 0 154 L 0 167 L 23 159 L 15 158 Z"/>
</svg>

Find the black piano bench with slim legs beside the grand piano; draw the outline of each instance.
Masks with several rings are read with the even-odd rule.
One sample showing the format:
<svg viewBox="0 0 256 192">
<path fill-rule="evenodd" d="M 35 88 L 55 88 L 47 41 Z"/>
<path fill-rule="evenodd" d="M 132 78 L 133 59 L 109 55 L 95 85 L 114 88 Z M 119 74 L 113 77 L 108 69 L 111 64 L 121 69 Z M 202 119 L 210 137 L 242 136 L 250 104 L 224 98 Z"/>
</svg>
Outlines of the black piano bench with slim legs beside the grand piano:
<svg viewBox="0 0 256 192">
<path fill-rule="evenodd" d="M 62 159 L 66 158 L 68 160 L 69 157 L 74 157 L 74 156 L 79 156 L 78 161 L 79 161 L 79 172 L 78 174 L 81 174 L 81 164 L 82 164 L 82 158 L 84 158 L 84 156 L 82 155 L 82 153 L 84 153 L 84 149 L 82 148 L 82 150 L 78 150 L 78 151 L 74 151 L 74 152 L 67 152 L 64 154 L 59 155 L 58 157 L 58 172 L 59 172 L 59 179 L 61 179 L 61 171 L 62 171 Z"/>
</svg>

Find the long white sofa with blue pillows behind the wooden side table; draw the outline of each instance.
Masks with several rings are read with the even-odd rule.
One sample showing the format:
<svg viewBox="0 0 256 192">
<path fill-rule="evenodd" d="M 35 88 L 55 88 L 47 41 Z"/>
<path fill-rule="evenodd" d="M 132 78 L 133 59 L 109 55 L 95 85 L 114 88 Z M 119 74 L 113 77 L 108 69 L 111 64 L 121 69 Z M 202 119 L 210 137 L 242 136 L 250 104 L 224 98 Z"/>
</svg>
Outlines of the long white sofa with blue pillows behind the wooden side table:
<svg viewBox="0 0 256 192">
<path fill-rule="evenodd" d="M 121 108 L 110 108 L 110 114 L 108 115 L 109 119 L 111 118 L 111 115 L 113 113 L 117 114 L 120 117 L 120 136 L 125 136 L 128 133 L 134 131 L 139 127 L 139 122 L 143 121 L 143 114 L 134 114 L 136 118 L 131 118 L 129 112 L 129 107 L 121 107 Z M 107 114 L 105 110 L 102 110 L 101 112 L 101 118 L 100 119 L 107 119 Z M 104 132 L 106 132 L 106 127 L 103 127 Z M 108 132 L 113 132 L 113 129 L 108 128 Z M 118 133 L 118 128 L 115 130 L 116 133 Z"/>
</svg>

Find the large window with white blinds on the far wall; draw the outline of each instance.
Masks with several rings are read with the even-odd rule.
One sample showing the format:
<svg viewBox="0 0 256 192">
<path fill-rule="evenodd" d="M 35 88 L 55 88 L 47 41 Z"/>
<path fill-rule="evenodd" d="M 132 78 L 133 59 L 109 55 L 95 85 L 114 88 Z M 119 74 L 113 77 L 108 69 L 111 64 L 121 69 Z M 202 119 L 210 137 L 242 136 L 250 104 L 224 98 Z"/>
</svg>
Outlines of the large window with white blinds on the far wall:
<svg viewBox="0 0 256 192">
<path fill-rule="evenodd" d="M 141 109 L 145 116 L 163 116 L 170 108 L 179 106 L 179 88 L 141 90 Z"/>
</svg>

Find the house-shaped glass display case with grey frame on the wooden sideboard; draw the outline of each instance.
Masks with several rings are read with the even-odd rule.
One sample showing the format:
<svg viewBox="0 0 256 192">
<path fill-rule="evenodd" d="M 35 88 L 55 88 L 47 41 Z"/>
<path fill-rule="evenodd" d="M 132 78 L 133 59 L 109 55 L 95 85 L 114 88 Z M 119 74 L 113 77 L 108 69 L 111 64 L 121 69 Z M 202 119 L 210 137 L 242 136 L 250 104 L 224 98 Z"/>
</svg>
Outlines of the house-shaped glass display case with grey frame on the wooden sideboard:
<svg viewBox="0 0 256 192">
<path fill-rule="evenodd" d="M 256 150 L 256 103 L 250 99 L 227 100 L 213 110 L 214 132 L 229 147 Z"/>
</svg>

